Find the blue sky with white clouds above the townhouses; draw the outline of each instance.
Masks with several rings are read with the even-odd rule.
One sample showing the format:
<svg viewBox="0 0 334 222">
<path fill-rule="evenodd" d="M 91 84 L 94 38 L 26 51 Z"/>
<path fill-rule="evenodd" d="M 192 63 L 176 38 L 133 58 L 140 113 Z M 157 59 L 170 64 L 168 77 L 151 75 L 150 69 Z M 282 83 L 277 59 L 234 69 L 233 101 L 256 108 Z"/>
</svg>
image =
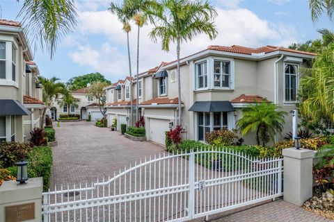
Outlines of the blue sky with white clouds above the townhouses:
<svg viewBox="0 0 334 222">
<path fill-rule="evenodd" d="M 120 0 L 117 0 L 120 1 Z M 306 42 L 320 37 L 319 28 L 333 30 L 333 22 L 326 16 L 312 22 L 308 1 L 303 0 L 209 0 L 216 7 L 218 36 L 209 40 L 198 35 L 181 46 L 181 56 L 206 49 L 208 45 L 289 46 L 292 42 Z M 1 19 L 17 20 L 23 1 L 1 0 Z M 76 0 L 77 28 L 58 45 L 52 60 L 47 51 L 33 51 L 40 74 L 56 76 L 64 82 L 74 76 L 98 71 L 116 82 L 128 75 L 126 34 L 115 15 L 107 11 L 109 1 Z M 139 73 L 158 66 L 161 61 L 176 58 L 176 46 L 161 51 L 161 42 L 153 42 L 148 34 L 152 25 L 141 29 Z M 136 26 L 132 24 L 130 50 L 132 72 L 136 74 Z"/>
</svg>

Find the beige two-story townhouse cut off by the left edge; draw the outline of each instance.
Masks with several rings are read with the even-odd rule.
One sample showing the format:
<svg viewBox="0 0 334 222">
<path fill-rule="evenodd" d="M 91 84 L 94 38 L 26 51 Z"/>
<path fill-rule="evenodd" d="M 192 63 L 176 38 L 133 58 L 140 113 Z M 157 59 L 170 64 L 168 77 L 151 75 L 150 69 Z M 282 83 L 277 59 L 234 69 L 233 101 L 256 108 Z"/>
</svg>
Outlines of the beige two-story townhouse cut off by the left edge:
<svg viewBox="0 0 334 222">
<path fill-rule="evenodd" d="M 23 142 L 40 127 L 42 95 L 38 67 L 19 22 L 0 19 L 0 143 Z"/>
</svg>

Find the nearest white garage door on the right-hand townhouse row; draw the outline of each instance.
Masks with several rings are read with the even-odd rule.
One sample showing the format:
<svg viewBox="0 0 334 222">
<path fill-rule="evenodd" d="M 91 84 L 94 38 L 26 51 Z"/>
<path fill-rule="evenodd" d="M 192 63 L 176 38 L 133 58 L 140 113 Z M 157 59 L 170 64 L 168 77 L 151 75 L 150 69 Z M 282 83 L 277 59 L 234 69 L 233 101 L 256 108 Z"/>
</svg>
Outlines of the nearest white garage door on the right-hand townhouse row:
<svg viewBox="0 0 334 222">
<path fill-rule="evenodd" d="M 149 138 L 158 144 L 165 144 L 165 132 L 169 130 L 169 121 L 166 119 L 149 120 Z"/>
</svg>

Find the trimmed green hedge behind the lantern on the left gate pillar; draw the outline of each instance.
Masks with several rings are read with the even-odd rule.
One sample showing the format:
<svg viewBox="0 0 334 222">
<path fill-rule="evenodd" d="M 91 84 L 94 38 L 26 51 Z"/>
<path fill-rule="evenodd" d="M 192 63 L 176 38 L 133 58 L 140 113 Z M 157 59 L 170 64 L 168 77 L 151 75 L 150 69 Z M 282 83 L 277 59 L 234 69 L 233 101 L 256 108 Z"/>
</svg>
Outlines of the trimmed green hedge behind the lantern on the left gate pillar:
<svg viewBox="0 0 334 222">
<path fill-rule="evenodd" d="M 52 151 L 49 146 L 35 146 L 29 152 L 27 157 L 28 176 L 29 178 L 42 177 L 43 189 L 47 191 L 50 185 L 51 167 L 52 167 Z M 17 167 L 9 167 L 8 171 L 12 176 L 16 177 Z"/>
</svg>

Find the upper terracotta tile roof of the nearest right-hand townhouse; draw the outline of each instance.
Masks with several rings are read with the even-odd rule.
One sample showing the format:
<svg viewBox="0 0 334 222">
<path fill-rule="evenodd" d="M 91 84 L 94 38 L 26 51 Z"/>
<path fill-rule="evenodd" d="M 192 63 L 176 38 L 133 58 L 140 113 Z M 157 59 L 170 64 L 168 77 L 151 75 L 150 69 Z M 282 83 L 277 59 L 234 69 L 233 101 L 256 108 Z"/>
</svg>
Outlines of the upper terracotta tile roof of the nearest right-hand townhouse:
<svg viewBox="0 0 334 222">
<path fill-rule="evenodd" d="M 299 53 L 299 54 L 304 54 L 308 56 L 316 56 L 316 53 L 310 53 L 308 51 L 298 51 L 298 50 L 293 50 L 293 49 L 287 49 L 284 47 L 279 47 L 279 46 L 262 46 L 259 48 L 249 48 L 245 46 L 207 46 L 207 49 L 211 50 L 216 50 L 216 51 L 226 51 L 230 53 L 240 53 L 240 54 L 246 54 L 246 55 L 251 55 L 252 53 L 271 53 L 274 51 L 286 51 L 290 53 Z"/>
</svg>

